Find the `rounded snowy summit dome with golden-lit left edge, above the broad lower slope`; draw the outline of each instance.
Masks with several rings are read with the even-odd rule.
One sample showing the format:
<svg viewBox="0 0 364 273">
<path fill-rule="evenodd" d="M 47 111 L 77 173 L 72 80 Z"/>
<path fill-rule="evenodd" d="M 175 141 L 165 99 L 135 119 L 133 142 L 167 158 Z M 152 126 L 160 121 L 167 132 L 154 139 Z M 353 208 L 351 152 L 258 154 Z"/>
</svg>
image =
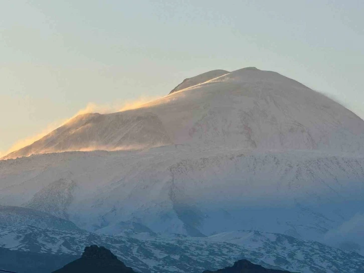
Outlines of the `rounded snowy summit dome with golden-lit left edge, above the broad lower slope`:
<svg viewBox="0 0 364 273">
<path fill-rule="evenodd" d="M 184 80 L 140 108 L 79 115 L 5 157 L 130 150 L 171 144 L 258 151 L 363 151 L 364 121 L 276 72 L 213 70 Z"/>
</svg>

